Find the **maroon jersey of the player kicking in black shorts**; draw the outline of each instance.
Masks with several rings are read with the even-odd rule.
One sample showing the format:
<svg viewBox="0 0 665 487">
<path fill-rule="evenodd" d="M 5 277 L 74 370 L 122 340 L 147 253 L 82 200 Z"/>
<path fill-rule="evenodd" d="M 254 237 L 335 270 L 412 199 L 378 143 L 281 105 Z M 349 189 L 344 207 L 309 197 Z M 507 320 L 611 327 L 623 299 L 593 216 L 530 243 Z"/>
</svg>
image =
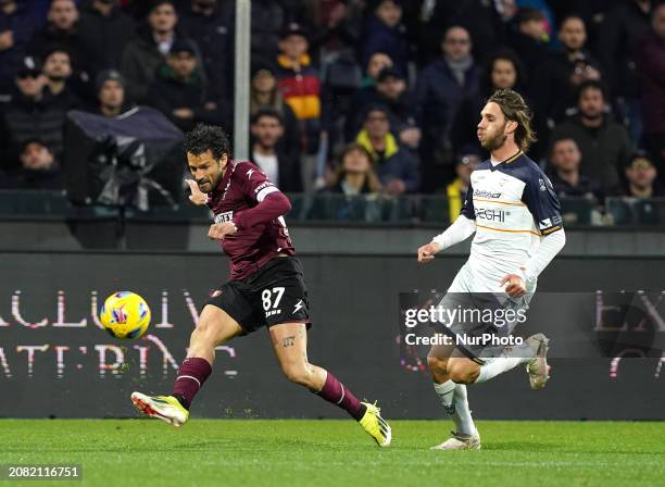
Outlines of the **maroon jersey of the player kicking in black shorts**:
<svg viewBox="0 0 665 487">
<path fill-rule="evenodd" d="M 248 277 L 278 253 L 296 255 L 284 221 L 291 204 L 258 166 L 229 160 L 209 197 L 215 223 L 234 222 L 238 228 L 221 241 L 230 263 L 229 280 Z"/>
</svg>

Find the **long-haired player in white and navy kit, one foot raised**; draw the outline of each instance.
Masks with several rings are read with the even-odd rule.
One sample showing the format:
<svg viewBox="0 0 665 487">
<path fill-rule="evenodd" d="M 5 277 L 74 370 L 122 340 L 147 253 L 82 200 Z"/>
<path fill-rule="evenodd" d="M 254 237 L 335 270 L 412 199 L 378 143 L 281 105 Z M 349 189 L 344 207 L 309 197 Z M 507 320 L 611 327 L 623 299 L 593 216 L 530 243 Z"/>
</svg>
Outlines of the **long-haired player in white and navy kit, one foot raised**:
<svg viewBox="0 0 665 487">
<path fill-rule="evenodd" d="M 536 290 L 538 275 L 565 245 L 561 205 L 552 185 L 524 153 L 536 139 L 530 120 L 526 102 L 511 89 L 495 91 L 482 109 L 477 135 L 491 158 L 472 173 L 457 220 L 418 249 L 418 262 L 429 262 L 438 252 L 475 233 L 468 261 L 455 276 L 447 298 L 495 294 L 524 308 Z M 455 333 L 465 332 L 464 324 L 457 330 L 452 328 Z M 427 362 L 434 387 L 455 424 L 452 436 L 434 449 L 480 448 L 466 384 L 484 383 L 526 364 L 531 388 L 544 387 L 549 378 L 548 339 L 538 334 L 526 344 L 528 354 L 485 360 L 464 347 L 432 346 Z"/>
</svg>

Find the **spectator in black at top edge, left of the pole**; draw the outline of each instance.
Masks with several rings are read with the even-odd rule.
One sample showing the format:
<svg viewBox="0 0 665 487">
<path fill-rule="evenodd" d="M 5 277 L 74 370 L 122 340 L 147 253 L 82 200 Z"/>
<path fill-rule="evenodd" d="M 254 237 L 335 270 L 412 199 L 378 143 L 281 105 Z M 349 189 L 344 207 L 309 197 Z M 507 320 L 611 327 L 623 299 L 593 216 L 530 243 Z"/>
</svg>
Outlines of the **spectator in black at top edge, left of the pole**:
<svg viewBox="0 0 665 487">
<path fill-rule="evenodd" d="M 78 23 L 83 65 L 91 79 L 108 68 L 118 68 L 125 46 L 135 35 L 134 18 L 124 13 L 117 0 L 92 0 L 84 4 Z"/>
</svg>

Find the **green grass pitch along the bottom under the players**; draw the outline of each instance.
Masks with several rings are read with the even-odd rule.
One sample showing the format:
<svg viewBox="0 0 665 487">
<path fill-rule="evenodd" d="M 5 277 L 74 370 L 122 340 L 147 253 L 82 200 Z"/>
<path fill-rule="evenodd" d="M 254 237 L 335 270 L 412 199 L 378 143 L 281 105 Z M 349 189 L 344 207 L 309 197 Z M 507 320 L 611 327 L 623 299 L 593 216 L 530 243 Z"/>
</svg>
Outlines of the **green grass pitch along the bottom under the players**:
<svg viewBox="0 0 665 487">
<path fill-rule="evenodd" d="M 1 420 L 0 464 L 79 463 L 95 486 L 655 486 L 665 422 L 479 422 L 481 451 L 430 451 L 447 421 Z"/>
</svg>

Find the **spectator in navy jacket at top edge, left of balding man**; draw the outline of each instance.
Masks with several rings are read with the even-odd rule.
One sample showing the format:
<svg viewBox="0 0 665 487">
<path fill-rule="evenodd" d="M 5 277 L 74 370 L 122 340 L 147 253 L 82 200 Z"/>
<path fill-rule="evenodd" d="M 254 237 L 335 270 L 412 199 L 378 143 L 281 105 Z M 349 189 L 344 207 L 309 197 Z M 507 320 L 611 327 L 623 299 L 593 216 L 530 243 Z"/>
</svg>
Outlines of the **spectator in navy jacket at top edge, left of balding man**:
<svg viewBox="0 0 665 487">
<path fill-rule="evenodd" d="M 398 0 L 380 0 L 368 16 L 363 41 L 362 63 L 366 65 L 376 52 L 388 54 L 393 66 L 406 76 L 410 48 L 406 28 L 402 24 L 402 5 Z"/>
</svg>

